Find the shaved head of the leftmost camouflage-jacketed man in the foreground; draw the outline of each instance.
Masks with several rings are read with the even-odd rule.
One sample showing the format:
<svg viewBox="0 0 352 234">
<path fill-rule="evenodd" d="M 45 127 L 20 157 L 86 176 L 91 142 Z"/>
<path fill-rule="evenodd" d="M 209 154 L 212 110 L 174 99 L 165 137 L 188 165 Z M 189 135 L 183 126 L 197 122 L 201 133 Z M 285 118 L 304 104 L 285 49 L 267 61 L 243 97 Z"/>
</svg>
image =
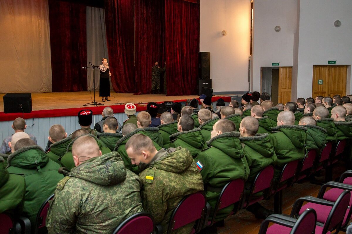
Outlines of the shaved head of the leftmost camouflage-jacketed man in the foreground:
<svg viewBox="0 0 352 234">
<path fill-rule="evenodd" d="M 72 155 L 75 165 L 78 166 L 91 158 L 101 156 L 101 151 L 93 136 L 84 135 L 73 142 Z"/>
</svg>

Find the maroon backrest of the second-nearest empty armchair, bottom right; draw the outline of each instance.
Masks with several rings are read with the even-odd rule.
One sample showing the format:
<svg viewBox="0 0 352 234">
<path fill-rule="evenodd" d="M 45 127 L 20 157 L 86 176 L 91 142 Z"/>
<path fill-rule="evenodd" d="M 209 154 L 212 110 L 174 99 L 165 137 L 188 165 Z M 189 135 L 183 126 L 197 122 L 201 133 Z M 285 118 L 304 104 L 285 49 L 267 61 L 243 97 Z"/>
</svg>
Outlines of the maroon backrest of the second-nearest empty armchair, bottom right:
<svg viewBox="0 0 352 234">
<path fill-rule="evenodd" d="M 327 232 L 333 230 L 338 225 L 342 224 L 348 207 L 348 203 L 350 202 L 350 196 L 351 194 L 347 190 L 344 190 L 340 194 L 338 199 L 335 201 L 334 206 L 331 208 L 328 218 L 325 221 L 323 231 L 325 230 L 325 232 Z"/>
</svg>

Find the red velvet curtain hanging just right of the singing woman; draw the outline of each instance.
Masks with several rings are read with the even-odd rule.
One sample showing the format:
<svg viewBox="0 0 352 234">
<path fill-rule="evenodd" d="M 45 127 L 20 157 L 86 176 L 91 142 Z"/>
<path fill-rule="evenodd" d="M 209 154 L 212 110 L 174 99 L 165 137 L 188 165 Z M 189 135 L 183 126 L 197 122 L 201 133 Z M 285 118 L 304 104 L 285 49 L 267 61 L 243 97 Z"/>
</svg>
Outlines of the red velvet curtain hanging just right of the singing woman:
<svg viewBox="0 0 352 234">
<path fill-rule="evenodd" d="M 134 0 L 105 0 L 105 25 L 111 83 L 117 93 L 136 91 L 134 79 Z"/>
</svg>

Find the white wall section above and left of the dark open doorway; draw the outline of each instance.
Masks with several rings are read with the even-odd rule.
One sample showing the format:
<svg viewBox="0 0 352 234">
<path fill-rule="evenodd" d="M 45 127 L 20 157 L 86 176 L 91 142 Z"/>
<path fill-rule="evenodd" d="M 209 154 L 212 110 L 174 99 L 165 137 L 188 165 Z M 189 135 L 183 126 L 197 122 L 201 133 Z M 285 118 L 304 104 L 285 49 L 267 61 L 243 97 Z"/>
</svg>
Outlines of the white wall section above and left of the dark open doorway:
<svg viewBox="0 0 352 234">
<path fill-rule="evenodd" d="M 260 91 L 260 67 L 293 66 L 297 0 L 253 0 L 253 16 L 252 91 Z"/>
</svg>

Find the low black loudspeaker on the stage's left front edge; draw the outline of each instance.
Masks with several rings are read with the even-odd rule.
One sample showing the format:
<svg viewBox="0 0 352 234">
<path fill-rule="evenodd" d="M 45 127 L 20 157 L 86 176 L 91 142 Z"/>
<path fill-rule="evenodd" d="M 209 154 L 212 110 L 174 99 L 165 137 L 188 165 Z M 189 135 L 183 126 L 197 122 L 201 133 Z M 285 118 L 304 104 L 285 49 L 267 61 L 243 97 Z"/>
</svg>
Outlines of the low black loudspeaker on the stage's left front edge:
<svg viewBox="0 0 352 234">
<path fill-rule="evenodd" d="M 32 94 L 30 93 L 7 93 L 3 99 L 5 113 L 17 113 L 22 110 L 24 113 L 30 113 L 32 111 Z"/>
</svg>

